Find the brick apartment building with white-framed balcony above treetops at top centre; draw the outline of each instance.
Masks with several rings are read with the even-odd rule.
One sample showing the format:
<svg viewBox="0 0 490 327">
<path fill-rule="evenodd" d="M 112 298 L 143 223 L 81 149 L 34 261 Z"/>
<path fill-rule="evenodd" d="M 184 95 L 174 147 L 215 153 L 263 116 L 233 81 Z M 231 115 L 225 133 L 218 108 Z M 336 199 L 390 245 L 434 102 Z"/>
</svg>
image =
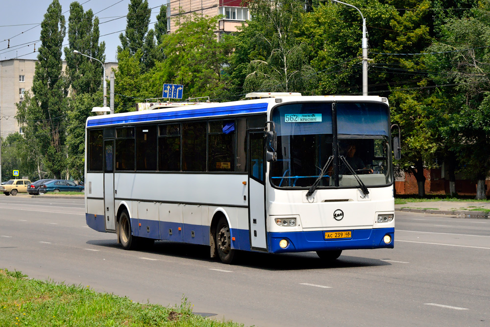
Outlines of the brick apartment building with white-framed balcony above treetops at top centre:
<svg viewBox="0 0 490 327">
<path fill-rule="evenodd" d="M 250 20 L 250 13 L 247 7 L 242 6 L 242 0 L 167 0 L 167 30 L 175 32 L 182 15 L 192 13 L 209 17 L 222 15 L 220 33 L 236 32 L 242 22 Z"/>
</svg>

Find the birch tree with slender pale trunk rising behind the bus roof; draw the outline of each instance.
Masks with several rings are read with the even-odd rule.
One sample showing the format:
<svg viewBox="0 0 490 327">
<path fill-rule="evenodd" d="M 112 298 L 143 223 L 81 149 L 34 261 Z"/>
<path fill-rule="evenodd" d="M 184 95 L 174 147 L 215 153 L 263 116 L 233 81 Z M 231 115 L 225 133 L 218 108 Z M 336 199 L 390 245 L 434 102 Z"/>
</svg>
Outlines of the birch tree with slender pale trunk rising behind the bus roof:
<svg viewBox="0 0 490 327">
<path fill-rule="evenodd" d="M 307 46 L 298 39 L 303 4 L 254 0 L 248 7 L 252 19 L 243 26 L 244 37 L 250 38 L 246 50 L 259 55 L 247 63 L 245 91 L 310 91 L 316 75 L 308 65 Z"/>
</svg>

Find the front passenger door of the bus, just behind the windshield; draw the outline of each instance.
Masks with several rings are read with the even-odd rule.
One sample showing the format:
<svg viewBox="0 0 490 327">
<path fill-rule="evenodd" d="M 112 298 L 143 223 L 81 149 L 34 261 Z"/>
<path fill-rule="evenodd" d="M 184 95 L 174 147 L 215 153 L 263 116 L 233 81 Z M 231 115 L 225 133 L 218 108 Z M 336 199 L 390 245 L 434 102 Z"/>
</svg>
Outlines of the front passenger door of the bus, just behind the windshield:
<svg viewBox="0 0 490 327">
<path fill-rule="evenodd" d="M 267 251 L 264 132 L 248 132 L 248 219 L 250 248 Z"/>
</svg>

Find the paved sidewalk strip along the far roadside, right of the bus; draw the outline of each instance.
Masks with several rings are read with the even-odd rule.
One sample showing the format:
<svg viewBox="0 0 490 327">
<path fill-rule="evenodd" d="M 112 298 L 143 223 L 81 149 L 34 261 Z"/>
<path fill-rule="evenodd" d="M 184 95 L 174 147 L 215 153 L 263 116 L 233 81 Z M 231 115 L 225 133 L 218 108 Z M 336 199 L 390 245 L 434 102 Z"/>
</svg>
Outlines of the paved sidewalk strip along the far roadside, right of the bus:
<svg viewBox="0 0 490 327">
<path fill-rule="evenodd" d="M 396 211 L 457 215 L 462 218 L 490 219 L 490 201 L 427 201 L 395 204 Z"/>
</svg>

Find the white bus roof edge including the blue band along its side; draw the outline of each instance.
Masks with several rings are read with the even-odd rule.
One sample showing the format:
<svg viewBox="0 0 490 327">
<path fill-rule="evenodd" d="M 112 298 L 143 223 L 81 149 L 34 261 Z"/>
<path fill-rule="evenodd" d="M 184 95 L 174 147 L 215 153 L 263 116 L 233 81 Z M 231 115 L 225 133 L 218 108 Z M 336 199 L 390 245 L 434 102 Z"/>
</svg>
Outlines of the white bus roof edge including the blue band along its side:
<svg viewBox="0 0 490 327">
<path fill-rule="evenodd" d="M 160 107 L 153 110 L 92 116 L 87 118 L 86 127 L 103 127 L 145 122 L 251 115 L 258 113 L 267 113 L 268 108 L 274 106 L 276 103 L 309 101 L 367 101 L 384 102 L 388 104 L 388 99 L 378 96 L 288 96 L 284 98 L 263 98 L 221 103 L 201 102 L 194 105 L 168 106 L 163 108 Z"/>
</svg>

